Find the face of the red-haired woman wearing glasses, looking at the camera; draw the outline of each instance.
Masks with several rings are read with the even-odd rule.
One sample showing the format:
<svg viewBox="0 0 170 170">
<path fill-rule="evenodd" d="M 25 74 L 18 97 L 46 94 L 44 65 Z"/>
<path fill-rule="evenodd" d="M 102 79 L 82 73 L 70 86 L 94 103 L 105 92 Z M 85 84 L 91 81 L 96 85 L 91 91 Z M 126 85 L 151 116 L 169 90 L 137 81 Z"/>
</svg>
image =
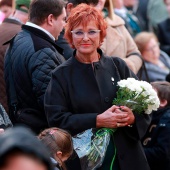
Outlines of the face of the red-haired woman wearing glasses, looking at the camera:
<svg viewBox="0 0 170 170">
<path fill-rule="evenodd" d="M 73 45 L 75 49 L 77 49 L 77 52 L 84 55 L 96 52 L 97 48 L 100 46 L 100 31 L 98 30 L 98 27 L 93 21 L 90 21 L 85 27 L 80 24 L 73 28 Z M 82 37 L 76 36 L 76 34 L 82 34 L 82 32 L 84 33 Z"/>
</svg>

